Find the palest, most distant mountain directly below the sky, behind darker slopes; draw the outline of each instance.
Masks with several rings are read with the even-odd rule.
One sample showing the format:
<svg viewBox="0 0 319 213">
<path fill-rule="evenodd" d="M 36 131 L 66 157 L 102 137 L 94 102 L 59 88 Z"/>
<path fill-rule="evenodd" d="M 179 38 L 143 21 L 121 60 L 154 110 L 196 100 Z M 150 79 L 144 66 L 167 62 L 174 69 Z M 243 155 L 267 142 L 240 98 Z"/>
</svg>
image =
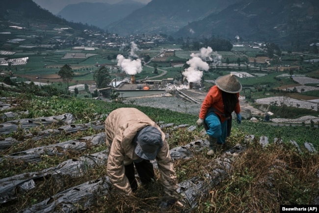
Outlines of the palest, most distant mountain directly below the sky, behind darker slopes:
<svg viewBox="0 0 319 213">
<path fill-rule="evenodd" d="M 105 28 L 145 5 L 133 0 L 123 0 L 116 4 L 81 2 L 67 5 L 57 15 L 68 21 Z"/>
</svg>

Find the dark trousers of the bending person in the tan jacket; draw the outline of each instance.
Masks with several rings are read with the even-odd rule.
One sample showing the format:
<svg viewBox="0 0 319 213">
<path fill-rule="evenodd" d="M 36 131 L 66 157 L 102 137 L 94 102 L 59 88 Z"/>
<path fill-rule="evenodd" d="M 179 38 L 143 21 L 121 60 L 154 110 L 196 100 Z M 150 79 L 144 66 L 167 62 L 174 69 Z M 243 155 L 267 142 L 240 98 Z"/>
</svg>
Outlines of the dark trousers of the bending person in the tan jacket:
<svg viewBox="0 0 319 213">
<path fill-rule="evenodd" d="M 137 190 L 137 181 L 135 179 L 134 165 L 142 184 L 146 185 L 155 180 L 153 164 L 149 160 L 142 160 L 139 163 L 131 163 L 125 166 L 125 176 L 129 179 L 132 191 Z"/>
</svg>

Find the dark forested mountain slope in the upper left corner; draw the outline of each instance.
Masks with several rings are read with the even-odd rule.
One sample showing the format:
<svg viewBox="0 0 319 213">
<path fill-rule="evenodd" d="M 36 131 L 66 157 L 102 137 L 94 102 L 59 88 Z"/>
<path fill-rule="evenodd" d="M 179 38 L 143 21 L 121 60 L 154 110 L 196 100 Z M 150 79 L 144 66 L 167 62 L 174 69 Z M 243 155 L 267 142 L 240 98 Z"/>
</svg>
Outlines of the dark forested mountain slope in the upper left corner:
<svg viewBox="0 0 319 213">
<path fill-rule="evenodd" d="M 46 9 L 41 8 L 32 0 L 1 0 L 0 18 L 4 20 L 19 22 L 23 27 L 29 21 L 39 21 L 62 26 L 69 26 L 75 30 L 101 30 L 95 26 L 85 26 L 79 23 L 68 22 L 61 19 Z"/>
</svg>

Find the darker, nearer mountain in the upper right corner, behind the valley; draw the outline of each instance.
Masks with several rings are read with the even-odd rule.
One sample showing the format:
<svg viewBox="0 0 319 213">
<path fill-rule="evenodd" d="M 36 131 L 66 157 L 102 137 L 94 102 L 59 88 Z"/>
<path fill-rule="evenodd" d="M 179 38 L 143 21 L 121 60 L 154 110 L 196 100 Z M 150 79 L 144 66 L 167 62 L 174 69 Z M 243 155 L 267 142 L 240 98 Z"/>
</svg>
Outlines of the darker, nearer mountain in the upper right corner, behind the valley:
<svg viewBox="0 0 319 213">
<path fill-rule="evenodd" d="M 280 46 L 318 42 L 319 1 L 242 0 L 218 14 L 189 23 L 175 37 L 222 36 L 235 40 L 269 41 Z"/>
</svg>

